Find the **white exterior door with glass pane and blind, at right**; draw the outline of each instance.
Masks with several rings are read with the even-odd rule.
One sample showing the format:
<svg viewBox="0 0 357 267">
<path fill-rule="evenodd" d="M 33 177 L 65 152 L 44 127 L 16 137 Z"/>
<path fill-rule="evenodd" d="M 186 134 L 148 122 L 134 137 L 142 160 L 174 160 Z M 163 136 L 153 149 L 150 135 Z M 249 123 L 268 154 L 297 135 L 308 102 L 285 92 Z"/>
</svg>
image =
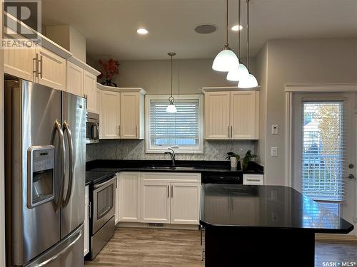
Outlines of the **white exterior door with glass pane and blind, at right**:
<svg viewBox="0 0 357 267">
<path fill-rule="evenodd" d="M 298 191 L 355 224 L 356 93 L 293 96 L 293 180 Z"/>
</svg>

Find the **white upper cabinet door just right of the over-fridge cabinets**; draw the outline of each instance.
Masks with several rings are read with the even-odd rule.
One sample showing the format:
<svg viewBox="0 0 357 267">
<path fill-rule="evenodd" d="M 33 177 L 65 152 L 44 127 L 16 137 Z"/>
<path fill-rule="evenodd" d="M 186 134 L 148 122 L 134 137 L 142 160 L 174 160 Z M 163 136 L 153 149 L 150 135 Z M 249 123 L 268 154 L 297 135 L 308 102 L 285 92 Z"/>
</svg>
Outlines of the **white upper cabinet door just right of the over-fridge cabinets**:
<svg viewBox="0 0 357 267">
<path fill-rule="evenodd" d="M 67 62 L 67 92 L 84 95 L 84 69 L 69 61 Z"/>
</svg>

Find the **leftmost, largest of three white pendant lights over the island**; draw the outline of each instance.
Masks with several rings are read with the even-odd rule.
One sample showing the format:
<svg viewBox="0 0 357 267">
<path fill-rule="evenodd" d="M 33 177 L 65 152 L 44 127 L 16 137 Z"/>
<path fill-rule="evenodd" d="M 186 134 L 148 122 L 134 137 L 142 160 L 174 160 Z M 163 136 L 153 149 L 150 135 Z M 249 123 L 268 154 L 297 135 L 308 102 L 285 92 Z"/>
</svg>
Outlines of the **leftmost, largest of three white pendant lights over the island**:
<svg viewBox="0 0 357 267">
<path fill-rule="evenodd" d="M 239 60 L 228 46 L 228 0 L 226 0 L 226 43 L 221 52 L 214 58 L 212 68 L 217 71 L 229 71 L 238 68 Z"/>
</svg>

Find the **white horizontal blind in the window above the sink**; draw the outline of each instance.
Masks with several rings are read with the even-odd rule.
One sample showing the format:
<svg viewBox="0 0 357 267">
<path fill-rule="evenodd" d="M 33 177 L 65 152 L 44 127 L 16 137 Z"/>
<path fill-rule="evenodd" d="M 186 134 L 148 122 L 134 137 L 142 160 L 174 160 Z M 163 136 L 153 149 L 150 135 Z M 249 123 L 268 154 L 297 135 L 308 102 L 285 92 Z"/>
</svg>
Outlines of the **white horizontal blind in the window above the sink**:
<svg viewBox="0 0 357 267">
<path fill-rule="evenodd" d="M 149 150 L 201 150 L 200 101 L 175 100 L 175 113 L 166 112 L 167 105 L 167 100 L 150 100 Z"/>
</svg>

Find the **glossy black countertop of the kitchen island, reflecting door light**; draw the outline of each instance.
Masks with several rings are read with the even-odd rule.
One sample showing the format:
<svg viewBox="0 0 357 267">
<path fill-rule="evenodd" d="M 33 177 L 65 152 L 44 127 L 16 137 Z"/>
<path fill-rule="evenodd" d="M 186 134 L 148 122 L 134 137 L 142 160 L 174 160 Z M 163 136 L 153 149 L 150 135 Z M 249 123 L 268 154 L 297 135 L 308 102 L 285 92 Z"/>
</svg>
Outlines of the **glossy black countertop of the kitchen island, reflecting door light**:
<svg viewBox="0 0 357 267">
<path fill-rule="evenodd" d="M 203 184 L 200 224 L 347 234 L 353 225 L 291 187 Z"/>
</svg>

